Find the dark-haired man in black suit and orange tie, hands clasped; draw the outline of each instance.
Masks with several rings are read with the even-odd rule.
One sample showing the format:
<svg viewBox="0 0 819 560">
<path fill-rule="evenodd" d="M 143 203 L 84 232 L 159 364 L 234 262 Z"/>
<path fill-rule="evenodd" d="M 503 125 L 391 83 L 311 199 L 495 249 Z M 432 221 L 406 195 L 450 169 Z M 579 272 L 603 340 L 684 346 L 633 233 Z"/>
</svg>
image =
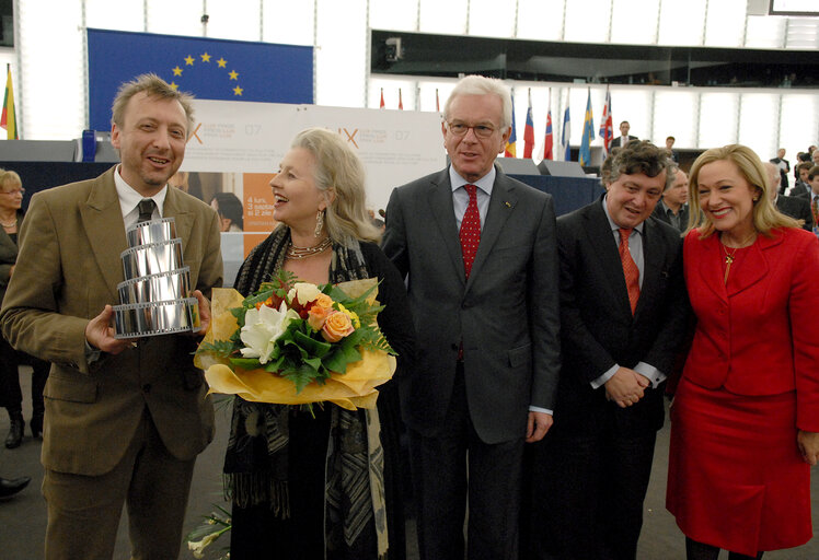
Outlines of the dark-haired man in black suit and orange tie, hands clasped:
<svg viewBox="0 0 819 560">
<path fill-rule="evenodd" d="M 684 339 L 680 232 L 650 218 L 667 155 L 612 155 L 598 201 L 557 220 L 563 365 L 555 424 L 533 448 L 528 558 L 633 560 L 664 381 Z"/>
</svg>

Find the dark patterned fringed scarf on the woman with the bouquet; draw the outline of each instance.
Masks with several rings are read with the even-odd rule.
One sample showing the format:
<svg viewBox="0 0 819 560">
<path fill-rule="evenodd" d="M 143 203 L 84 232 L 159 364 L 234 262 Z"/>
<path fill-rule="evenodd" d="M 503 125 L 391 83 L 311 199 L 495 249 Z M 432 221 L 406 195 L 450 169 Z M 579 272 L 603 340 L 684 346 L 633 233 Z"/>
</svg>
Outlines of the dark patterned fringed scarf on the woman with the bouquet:
<svg viewBox="0 0 819 560">
<path fill-rule="evenodd" d="M 277 228 L 242 264 L 235 289 L 249 295 L 281 269 L 290 230 Z M 339 283 L 369 278 L 357 242 L 333 245 L 330 281 Z M 355 548 L 374 520 L 379 551 L 387 547 L 383 500 L 383 452 L 379 443 L 378 413 L 330 407 L 330 441 L 325 478 L 325 547 Z M 289 516 L 288 441 L 291 407 L 233 402 L 230 440 L 224 457 L 226 492 L 241 508 L 269 503 L 274 514 Z M 366 443 L 361 445 L 361 442 Z"/>
</svg>

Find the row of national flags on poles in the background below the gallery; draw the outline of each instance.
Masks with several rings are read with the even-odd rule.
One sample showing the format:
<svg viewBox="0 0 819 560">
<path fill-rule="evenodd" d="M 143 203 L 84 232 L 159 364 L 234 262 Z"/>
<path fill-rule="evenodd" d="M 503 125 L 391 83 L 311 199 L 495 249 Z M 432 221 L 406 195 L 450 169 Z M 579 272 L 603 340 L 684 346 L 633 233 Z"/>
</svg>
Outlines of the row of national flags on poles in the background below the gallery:
<svg viewBox="0 0 819 560">
<path fill-rule="evenodd" d="M 384 108 L 384 89 L 381 88 L 381 102 L 380 108 Z M 404 108 L 402 101 L 401 88 L 399 88 L 399 109 Z M 440 101 L 438 97 L 438 90 L 435 90 L 435 109 L 440 112 Z M 572 132 L 572 117 L 569 113 L 568 95 L 566 96 L 566 108 L 563 112 L 563 126 L 561 127 L 561 145 L 560 152 L 555 152 L 555 136 L 552 128 L 552 89 L 549 89 L 549 110 L 546 113 L 546 129 L 543 141 L 543 152 L 539 153 L 539 159 L 542 160 L 555 160 L 560 159 L 563 161 L 572 161 L 572 150 L 569 148 L 570 132 Z M 600 130 L 598 131 L 600 138 L 603 140 L 603 155 L 609 155 L 611 149 L 611 141 L 614 138 L 613 121 L 611 118 L 611 92 L 605 89 L 605 104 L 603 105 L 603 118 L 600 122 Z M 518 130 L 515 125 L 515 96 L 512 95 L 512 122 L 511 133 L 509 140 L 506 143 L 504 156 L 517 158 L 517 141 Z M 578 152 L 577 161 L 580 165 L 591 164 L 591 142 L 595 141 L 595 116 L 591 109 L 591 90 L 589 89 L 588 98 L 586 101 L 586 114 L 584 115 L 582 124 L 582 137 L 580 138 L 580 150 Z M 529 90 L 529 106 L 526 113 L 526 125 L 523 128 L 523 158 L 532 159 L 534 151 L 534 119 L 532 118 L 532 90 Z"/>
</svg>

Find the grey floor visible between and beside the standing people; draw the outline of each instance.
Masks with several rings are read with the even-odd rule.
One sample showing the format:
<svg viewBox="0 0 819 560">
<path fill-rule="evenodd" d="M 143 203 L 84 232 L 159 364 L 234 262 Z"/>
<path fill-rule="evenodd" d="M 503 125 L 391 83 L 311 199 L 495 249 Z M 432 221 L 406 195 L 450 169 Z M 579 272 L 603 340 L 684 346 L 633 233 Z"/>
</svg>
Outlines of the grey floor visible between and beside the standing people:
<svg viewBox="0 0 819 560">
<path fill-rule="evenodd" d="M 21 383 L 24 394 L 30 392 L 30 370 L 21 369 Z M 31 416 L 31 402 L 24 404 L 24 416 Z M 200 516 L 212 510 L 212 503 L 221 503 L 221 471 L 222 453 L 228 438 L 229 412 L 217 410 L 217 436 L 214 443 L 199 457 L 194 474 L 193 489 L 185 521 L 185 532 L 193 529 L 200 522 Z M 5 411 L 0 411 L 0 441 L 5 439 L 9 419 Z M 668 466 L 668 425 L 659 432 L 655 453 L 654 470 L 645 503 L 645 524 L 639 540 L 638 558 L 657 560 L 684 559 L 683 537 L 674 525 L 671 515 L 665 509 L 666 469 Z M 0 560 L 38 560 L 43 558 L 43 539 L 46 527 L 45 502 L 39 493 L 43 480 L 43 468 L 39 464 L 41 443 L 31 438 L 26 425 L 26 436 L 23 445 L 16 450 L 5 450 L 0 446 L 0 476 L 5 478 L 26 475 L 32 477 L 32 483 L 20 494 L 0 501 Z M 815 469 L 816 474 L 816 469 Z M 811 483 L 814 502 L 814 532 L 819 532 L 819 476 L 815 476 Z M 412 535 L 414 527 L 408 526 Z M 227 545 L 227 542 L 224 542 Z M 218 557 L 220 542 L 214 545 L 212 550 L 205 558 Z M 129 552 L 125 514 L 120 523 L 117 538 L 115 559 L 127 560 Z M 193 559 L 193 555 L 183 549 L 180 558 Z M 411 546 L 411 560 L 417 558 L 417 552 Z M 727 558 L 723 553 L 722 559 Z M 789 550 L 769 552 L 770 560 L 816 560 L 819 559 L 819 539 L 814 538 L 807 545 Z"/>
</svg>

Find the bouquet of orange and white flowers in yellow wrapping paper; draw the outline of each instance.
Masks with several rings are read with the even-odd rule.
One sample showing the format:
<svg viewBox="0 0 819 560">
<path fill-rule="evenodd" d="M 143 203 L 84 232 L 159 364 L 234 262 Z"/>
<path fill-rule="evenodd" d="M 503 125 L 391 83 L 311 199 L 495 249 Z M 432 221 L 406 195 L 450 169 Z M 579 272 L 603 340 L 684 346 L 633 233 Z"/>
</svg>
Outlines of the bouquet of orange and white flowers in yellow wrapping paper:
<svg viewBox="0 0 819 560">
<path fill-rule="evenodd" d="M 281 271 L 247 298 L 214 290 L 211 327 L 196 352 L 211 393 L 284 405 L 372 408 L 395 371 L 376 317 L 376 279 L 299 282 Z"/>
</svg>

